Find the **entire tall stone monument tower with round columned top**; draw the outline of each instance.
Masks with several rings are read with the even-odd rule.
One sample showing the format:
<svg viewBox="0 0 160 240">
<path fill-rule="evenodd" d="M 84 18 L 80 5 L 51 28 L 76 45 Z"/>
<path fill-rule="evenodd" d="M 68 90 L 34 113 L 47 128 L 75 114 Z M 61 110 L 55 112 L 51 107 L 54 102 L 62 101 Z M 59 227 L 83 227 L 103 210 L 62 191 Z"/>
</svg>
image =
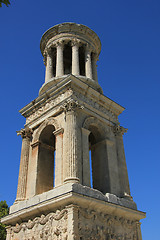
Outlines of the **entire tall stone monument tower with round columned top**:
<svg viewBox="0 0 160 240">
<path fill-rule="evenodd" d="M 130 195 L 122 106 L 103 95 L 101 43 L 88 27 L 62 23 L 44 33 L 46 66 L 26 118 L 15 203 L 2 219 L 7 240 L 142 240 Z M 90 157 L 91 155 L 91 157 Z"/>
</svg>

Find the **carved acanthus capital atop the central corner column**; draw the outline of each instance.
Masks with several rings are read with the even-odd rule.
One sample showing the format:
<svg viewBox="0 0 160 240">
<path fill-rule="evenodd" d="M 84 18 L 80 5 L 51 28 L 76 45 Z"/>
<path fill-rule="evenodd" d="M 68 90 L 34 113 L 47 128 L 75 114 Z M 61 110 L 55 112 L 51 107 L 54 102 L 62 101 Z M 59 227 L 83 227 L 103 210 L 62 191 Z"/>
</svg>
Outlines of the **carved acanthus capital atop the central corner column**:
<svg viewBox="0 0 160 240">
<path fill-rule="evenodd" d="M 67 102 L 65 102 L 62 106 L 61 109 L 66 113 L 66 112 L 75 112 L 78 109 L 83 109 L 84 106 L 80 105 L 78 101 L 75 101 L 74 99 L 70 99 Z"/>
</svg>

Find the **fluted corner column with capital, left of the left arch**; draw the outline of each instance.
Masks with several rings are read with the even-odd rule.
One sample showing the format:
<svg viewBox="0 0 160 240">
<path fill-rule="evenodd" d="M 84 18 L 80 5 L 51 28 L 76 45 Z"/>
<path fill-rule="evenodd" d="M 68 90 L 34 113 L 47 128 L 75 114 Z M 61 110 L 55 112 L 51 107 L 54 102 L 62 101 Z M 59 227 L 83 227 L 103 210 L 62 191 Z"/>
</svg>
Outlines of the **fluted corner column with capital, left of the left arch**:
<svg viewBox="0 0 160 240">
<path fill-rule="evenodd" d="M 26 198 L 29 149 L 32 131 L 29 128 L 25 128 L 17 131 L 17 135 L 21 135 L 22 137 L 22 150 L 16 201 L 22 201 Z"/>
</svg>

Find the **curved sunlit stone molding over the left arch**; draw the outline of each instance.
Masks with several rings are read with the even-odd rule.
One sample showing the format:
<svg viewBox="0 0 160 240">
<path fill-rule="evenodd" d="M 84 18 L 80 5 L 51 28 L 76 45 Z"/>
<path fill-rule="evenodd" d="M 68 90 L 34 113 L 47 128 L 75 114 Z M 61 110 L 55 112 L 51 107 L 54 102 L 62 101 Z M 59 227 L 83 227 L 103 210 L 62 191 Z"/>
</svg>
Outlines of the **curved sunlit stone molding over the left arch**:
<svg viewBox="0 0 160 240">
<path fill-rule="evenodd" d="M 39 137 L 40 137 L 43 129 L 45 127 L 47 127 L 48 125 L 53 125 L 55 127 L 55 131 L 61 128 L 58 121 L 55 118 L 53 118 L 53 117 L 47 118 L 43 123 L 41 123 L 41 125 L 36 130 L 36 133 L 33 136 L 33 143 L 37 142 L 39 140 Z"/>
</svg>

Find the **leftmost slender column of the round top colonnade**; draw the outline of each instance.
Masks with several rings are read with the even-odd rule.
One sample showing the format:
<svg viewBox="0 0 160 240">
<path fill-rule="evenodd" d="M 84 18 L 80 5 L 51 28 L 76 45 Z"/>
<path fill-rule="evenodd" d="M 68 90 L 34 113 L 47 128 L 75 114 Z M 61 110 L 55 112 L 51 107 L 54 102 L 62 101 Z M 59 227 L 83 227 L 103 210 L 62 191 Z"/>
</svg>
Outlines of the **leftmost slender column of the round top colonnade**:
<svg viewBox="0 0 160 240">
<path fill-rule="evenodd" d="M 48 49 L 46 56 L 46 75 L 45 83 L 47 83 L 53 77 L 53 56 L 52 50 Z"/>
</svg>

